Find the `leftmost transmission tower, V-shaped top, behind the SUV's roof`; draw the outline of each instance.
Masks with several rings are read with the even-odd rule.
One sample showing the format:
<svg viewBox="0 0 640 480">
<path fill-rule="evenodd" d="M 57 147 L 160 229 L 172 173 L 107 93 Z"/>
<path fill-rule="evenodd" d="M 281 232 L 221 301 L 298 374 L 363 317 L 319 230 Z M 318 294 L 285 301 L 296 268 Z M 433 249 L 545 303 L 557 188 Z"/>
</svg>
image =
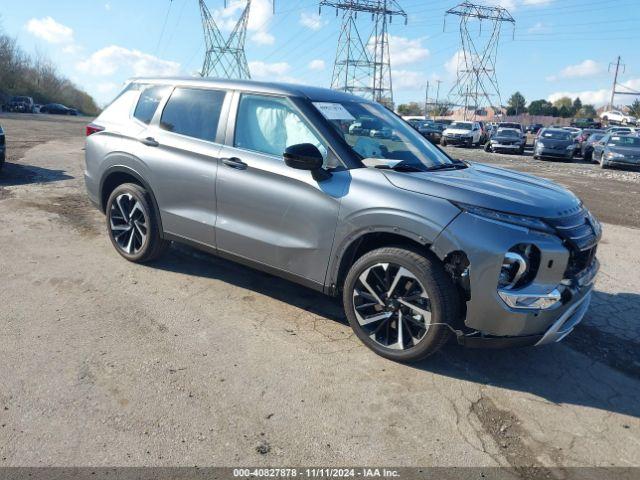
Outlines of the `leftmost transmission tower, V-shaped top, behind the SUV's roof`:
<svg viewBox="0 0 640 480">
<path fill-rule="evenodd" d="M 251 0 L 247 0 L 236 26 L 225 40 L 204 0 L 198 0 L 206 52 L 202 64 L 202 77 L 251 78 L 244 44 L 247 37 L 247 25 Z M 226 6 L 226 2 L 225 2 Z"/>
</svg>

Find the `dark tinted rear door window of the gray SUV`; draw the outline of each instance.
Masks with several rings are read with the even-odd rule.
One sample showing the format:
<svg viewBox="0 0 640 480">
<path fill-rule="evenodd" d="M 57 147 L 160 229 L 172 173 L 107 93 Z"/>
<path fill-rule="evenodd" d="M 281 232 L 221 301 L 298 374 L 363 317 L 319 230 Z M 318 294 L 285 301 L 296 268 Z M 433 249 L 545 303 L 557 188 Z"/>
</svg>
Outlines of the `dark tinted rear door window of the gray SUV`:
<svg viewBox="0 0 640 480">
<path fill-rule="evenodd" d="M 162 111 L 160 128 L 215 142 L 226 92 L 176 88 Z"/>
</svg>

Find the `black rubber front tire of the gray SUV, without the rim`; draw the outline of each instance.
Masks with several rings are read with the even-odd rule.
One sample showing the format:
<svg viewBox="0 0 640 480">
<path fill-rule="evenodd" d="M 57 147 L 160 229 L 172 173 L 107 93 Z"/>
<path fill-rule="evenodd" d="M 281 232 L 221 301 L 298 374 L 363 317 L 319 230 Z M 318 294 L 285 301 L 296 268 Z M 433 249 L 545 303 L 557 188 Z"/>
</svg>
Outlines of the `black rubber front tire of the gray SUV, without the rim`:
<svg viewBox="0 0 640 480">
<path fill-rule="evenodd" d="M 362 273 L 371 267 L 376 268 L 375 266 L 378 264 L 389 264 L 405 268 L 413 275 L 414 279 L 417 279 L 418 286 L 428 296 L 430 309 L 428 328 L 426 328 L 424 336 L 422 336 L 417 343 L 411 338 L 412 344 L 404 349 L 389 348 L 372 339 L 370 332 L 367 332 L 363 326 L 360 325 L 356 317 L 354 289 L 360 281 L 359 277 Z M 402 287 L 401 283 L 398 283 L 398 285 Z M 404 286 L 408 288 L 406 285 L 408 285 L 407 282 L 404 283 Z M 397 291 L 398 288 L 399 287 L 396 287 L 394 291 Z M 380 298 L 383 298 L 386 294 L 381 293 L 380 295 L 382 295 Z M 399 247 L 386 247 L 373 250 L 360 257 L 354 263 L 344 283 L 343 305 L 349 324 L 358 338 L 378 355 L 398 362 L 415 362 L 437 352 L 449 338 L 451 330 L 448 325 L 452 327 L 455 326 L 460 316 L 460 297 L 458 291 L 451 277 L 445 272 L 442 264 L 437 259 L 432 259 L 416 251 Z M 399 308 L 405 309 L 405 317 L 407 313 L 413 311 L 403 306 Z M 424 317 L 422 318 L 426 322 L 426 319 Z M 385 321 L 387 321 L 387 324 L 390 326 L 393 326 L 395 321 L 395 327 L 392 328 L 396 328 L 396 339 L 399 344 L 400 341 L 397 335 L 398 320 L 390 319 Z M 379 325 L 382 326 L 381 324 Z M 411 334 L 410 325 L 415 328 L 415 324 L 405 321 L 402 325 L 405 326 L 403 338 L 407 339 L 407 332 Z M 387 334 L 389 334 L 389 328 L 384 328 L 387 329 Z"/>
</svg>

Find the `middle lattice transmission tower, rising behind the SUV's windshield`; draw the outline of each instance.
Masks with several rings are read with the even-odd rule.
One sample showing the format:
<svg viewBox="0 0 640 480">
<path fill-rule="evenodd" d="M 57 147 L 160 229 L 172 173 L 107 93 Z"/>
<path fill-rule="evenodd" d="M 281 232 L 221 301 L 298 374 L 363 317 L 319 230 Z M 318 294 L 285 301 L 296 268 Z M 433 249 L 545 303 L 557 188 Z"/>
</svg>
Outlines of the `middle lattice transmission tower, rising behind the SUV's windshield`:
<svg viewBox="0 0 640 480">
<path fill-rule="evenodd" d="M 340 10 L 342 27 L 333 66 L 331 88 L 354 93 L 377 102 L 393 105 L 389 23 L 393 17 L 407 14 L 395 0 L 321 0 L 323 6 Z M 363 37 L 358 30 L 358 13 L 371 14 L 373 31 Z"/>
</svg>

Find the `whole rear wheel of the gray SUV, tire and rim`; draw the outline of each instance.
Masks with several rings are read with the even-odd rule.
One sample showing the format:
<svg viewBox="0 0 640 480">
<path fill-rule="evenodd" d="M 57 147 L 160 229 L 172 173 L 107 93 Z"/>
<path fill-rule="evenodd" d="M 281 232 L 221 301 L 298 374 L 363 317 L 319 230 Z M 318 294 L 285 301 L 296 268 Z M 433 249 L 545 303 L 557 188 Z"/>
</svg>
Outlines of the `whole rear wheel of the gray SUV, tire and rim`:
<svg viewBox="0 0 640 480">
<path fill-rule="evenodd" d="M 149 193 L 140 185 L 124 183 L 109 196 L 107 232 L 120 255 L 143 263 L 158 258 L 168 242 L 160 235 L 157 212 Z"/>
</svg>

